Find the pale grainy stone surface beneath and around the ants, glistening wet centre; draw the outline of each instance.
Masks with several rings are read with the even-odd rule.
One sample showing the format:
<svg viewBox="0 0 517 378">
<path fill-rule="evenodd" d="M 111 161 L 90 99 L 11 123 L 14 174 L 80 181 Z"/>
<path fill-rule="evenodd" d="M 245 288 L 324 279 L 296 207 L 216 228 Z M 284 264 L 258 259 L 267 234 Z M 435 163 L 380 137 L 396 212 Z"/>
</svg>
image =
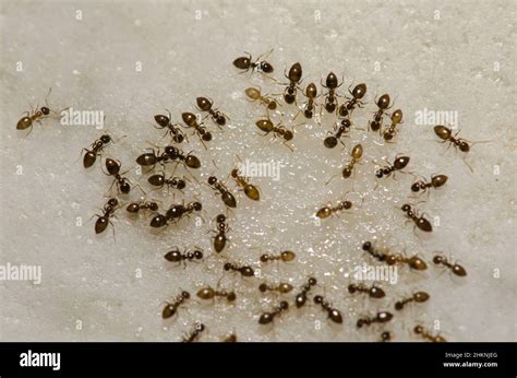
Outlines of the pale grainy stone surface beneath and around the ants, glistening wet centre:
<svg viewBox="0 0 517 378">
<path fill-rule="evenodd" d="M 75 19 L 77 10 L 82 21 Z M 196 11 L 201 20 L 195 20 Z M 43 283 L 0 283 L 0 339 L 179 340 L 200 320 L 208 329 L 203 340 L 212 341 L 232 330 L 248 341 L 373 341 L 381 329 L 357 331 L 360 315 L 390 309 L 395 298 L 425 290 L 429 303 L 409 306 L 386 328 L 396 340 L 416 340 L 411 329 L 417 322 L 431 327 L 438 320 L 450 340 L 515 341 L 515 1 L 2 1 L 0 263 L 39 264 Z M 260 75 L 236 75 L 231 61 L 243 50 L 257 56 L 269 48 L 275 49 L 268 60 L 276 78 L 300 61 L 303 85 L 320 82 L 330 70 L 345 76 L 341 93 L 365 82 L 369 105 L 354 115 L 359 127 L 364 128 L 375 110 L 373 97 L 388 92 L 405 113 L 396 143 L 380 146 L 378 135 L 354 130 L 345 150 L 326 150 L 322 140 L 332 117 L 322 126 L 297 127 L 294 153 L 260 137 L 254 121 L 263 110 L 242 97 L 243 90 L 251 82 L 264 92 L 281 88 Z M 137 61 L 142 72 L 135 71 Z M 16 72 L 16 62 L 23 62 L 23 72 Z M 500 71 L 494 71 L 494 62 Z M 223 275 L 220 257 L 187 269 L 163 259 L 175 245 L 201 246 L 211 255 L 207 231 L 215 227 L 209 221 L 223 210 L 221 202 L 207 187 L 191 186 L 185 198 L 197 193 L 206 209 L 201 227 L 190 220 L 155 236 L 148 218 L 133 221 L 120 210 L 113 221 L 116 241 L 111 231 L 96 236 L 94 221 L 86 222 L 101 208 L 111 180 L 98 163 L 83 169 L 79 156 L 99 131 L 53 120 L 36 126 L 26 139 L 15 130 L 28 103 L 41 104 L 50 86 L 55 108 L 104 110 L 107 131 L 128 135 L 107 150 L 128 168 L 148 146 L 145 141 L 157 142 L 163 135 L 152 127 L 153 115 L 170 108 L 179 120 L 181 111 L 194 110 L 196 96 L 214 98 L 231 121 L 226 132 L 215 134 L 207 152 L 196 138 L 184 146 L 202 158 L 200 181 L 211 173 L 225 178 L 236 153 L 285 164 L 278 182 L 254 179 L 263 201 L 238 196 L 227 256 L 254 263 L 264 251 L 296 251 L 293 263 L 269 265 L 263 275 L 298 287 L 314 274 L 320 281 L 314 292 L 324 293 L 341 310 L 342 327 L 329 324 L 325 314 L 309 304 L 263 329 L 257 316 L 278 300 L 260 300 L 258 280 L 232 275 L 225 275 L 221 286 L 238 291 L 235 306 L 192 302 L 179 317 L 163 322 L 161 302 L 180 287 L 194 294 L 202 284 L 215 286 Z M 473 174 L 459 153 L 445 152 L 446 146 L 435 142 L 431 126 L 414 125 L 414 111 L 424 107 L 456 110 L 461 135 L 492 141 L 476 145 L 467 157 Z M 275 120 L 289 125 L 296 109 L 281 110 L 285 116 L 275 115 Z M 211 122 L 208 127 L 216 130 Z M 357 142 L 363 143 L 365 164 L 358 166 L 356 179 L 338 177 L 325 186 Z M 432 235 L 420 239 L 396 209 L 407 201 L 411 176 L 398 175 L 373 191 L 372 162 L 393 160 L 399 152 L 411 156 L 410 172 L 449 176 L 443 190 L 420 204 L 441 220 Z M 23 175 L 15 175 L 17 165 Z M 494 175 L 496 165 L 500 175 Z M 134 170 L 130 177 L 147 188 L 146 177 Z M 352 182 L 365 197 L 362 208 L 316 226 L 313 214 L 318 206 L 341 199 Z M 165 192 L 156 196 L 166 204 L 173 201 Z M 83 227 L 75 226 L 76 217 Z M 373 263 L 360 249 L 366 239 L 418 252 L 428 262 L 433 250 L 442 250 L 459 260 L 469 275 L 438 276 L 441 270 L 431 265 L 423 274 L 401 269 L 397 285 L 382 284 L 387 298 L 350 297 L 346 273 L 363 261 Z M 135 277 L 137 269 L 141 279 Z M 494 279 L 495 269 L 500 279 Z M 75 329 L 77 320 L 82 330 Z"/>
</svg>

